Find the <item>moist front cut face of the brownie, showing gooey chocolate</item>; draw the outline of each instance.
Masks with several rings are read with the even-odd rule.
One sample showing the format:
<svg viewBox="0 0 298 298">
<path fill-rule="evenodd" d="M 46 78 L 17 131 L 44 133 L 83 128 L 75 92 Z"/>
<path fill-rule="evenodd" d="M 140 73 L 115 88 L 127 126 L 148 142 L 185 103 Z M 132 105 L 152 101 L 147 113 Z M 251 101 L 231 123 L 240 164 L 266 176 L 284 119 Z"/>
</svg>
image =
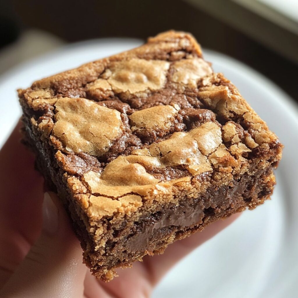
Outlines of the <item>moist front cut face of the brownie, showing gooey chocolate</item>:
<svg viewBox="0 0 298 298">
<path fill-rule="evenodd" d="M 254 208 L 268 199 L 273 191 L 273 169 L 269 167 L 255 174 L 254 177 L 243 176 L 234 181 L 234 187 L 210 188 L 199 198 L 181 200 L 178 206 L 165 206 L 163 209 L 140 218 L 129 229 L 128 235 L 117 231 L 106 244 L 103 255 L 89 251 L 88 263 L 94 274 L 106 272 L 113 268 L 130 266 L 131 260 L 139 259 L 145 254 L 163 251 L 169 243 L 204 229 L 205 226 L 219 218 Z M 98 267 L 103 260 L 109 266 Z"/>
</svg>

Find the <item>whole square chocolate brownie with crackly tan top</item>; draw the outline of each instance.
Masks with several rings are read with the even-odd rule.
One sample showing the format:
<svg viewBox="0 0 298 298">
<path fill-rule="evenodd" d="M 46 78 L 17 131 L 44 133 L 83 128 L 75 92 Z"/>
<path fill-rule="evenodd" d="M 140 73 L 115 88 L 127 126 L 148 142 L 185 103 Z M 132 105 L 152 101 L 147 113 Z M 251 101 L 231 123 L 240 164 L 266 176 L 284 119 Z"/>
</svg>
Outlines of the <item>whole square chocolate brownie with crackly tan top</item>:
<svg viewBox="0 0 298 298">
<path fill-rule="evenodd" d="M 18 93 L 24 140 L 104 281 L 272 194 L 282 145 L 190 34 Z"/>
</svg>

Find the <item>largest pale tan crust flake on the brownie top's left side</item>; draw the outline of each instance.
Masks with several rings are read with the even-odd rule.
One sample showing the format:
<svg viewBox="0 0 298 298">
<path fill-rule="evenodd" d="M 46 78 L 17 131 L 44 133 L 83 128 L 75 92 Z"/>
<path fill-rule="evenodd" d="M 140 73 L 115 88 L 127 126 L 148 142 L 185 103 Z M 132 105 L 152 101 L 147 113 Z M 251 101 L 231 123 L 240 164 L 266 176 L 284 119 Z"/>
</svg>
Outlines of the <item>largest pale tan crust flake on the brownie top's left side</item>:
<svg viewBox="0 0 298 298">
<path fill-rule="evenodd" d="M 102 156 L 122 133 L 120 112 L 85 98 L 59 98 L 52 135 L 69 152 Z"/>
</svg>

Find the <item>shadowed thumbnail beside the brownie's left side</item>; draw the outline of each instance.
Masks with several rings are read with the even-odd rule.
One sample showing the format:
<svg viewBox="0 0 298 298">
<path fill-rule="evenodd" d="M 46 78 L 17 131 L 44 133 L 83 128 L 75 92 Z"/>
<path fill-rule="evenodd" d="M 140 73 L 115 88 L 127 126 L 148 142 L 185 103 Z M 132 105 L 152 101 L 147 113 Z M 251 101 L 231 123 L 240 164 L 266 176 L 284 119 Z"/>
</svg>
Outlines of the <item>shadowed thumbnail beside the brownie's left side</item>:
<svg viewBox="0 0 298 298">
<path fill-rule="evenodd" d="M 42 204 L 42 229 L 51 235 L 58 230 L 58 209 L 49 193 L 44 194 Z"/>
</svg>

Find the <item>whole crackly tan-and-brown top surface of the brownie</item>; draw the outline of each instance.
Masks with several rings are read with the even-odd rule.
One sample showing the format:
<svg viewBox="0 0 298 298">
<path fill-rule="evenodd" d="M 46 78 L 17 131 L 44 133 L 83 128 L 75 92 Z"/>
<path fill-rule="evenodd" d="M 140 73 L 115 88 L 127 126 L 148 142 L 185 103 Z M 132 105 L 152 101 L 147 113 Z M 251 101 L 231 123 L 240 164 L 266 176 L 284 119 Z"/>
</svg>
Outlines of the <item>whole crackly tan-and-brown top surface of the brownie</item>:
<svg viewBox="0 0 298 298">
<path fill-rule="evenodd" d="M 252 159 L 260 170 L 281 157 L 277 137 L 184 32 L 18 92 L 69 191 L 96 218 L 192 198 L 253 171 Z"/>
</svg>

